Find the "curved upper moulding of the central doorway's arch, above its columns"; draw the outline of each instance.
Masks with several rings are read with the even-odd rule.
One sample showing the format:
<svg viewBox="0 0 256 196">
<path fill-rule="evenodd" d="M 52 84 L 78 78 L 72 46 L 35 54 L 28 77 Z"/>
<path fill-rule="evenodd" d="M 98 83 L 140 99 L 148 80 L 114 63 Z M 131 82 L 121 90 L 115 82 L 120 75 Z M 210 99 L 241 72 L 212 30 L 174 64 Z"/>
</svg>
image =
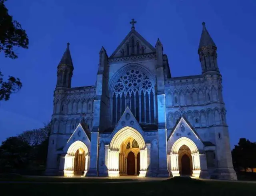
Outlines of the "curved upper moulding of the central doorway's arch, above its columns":
<svg viewBox="0 0 256 196">
<path fill-rule="evenodd" d="M 142 135 L 140 134 L 140 132 L 138 132 L 136 129 L 134 129 L 132 127 L 127 126 L 127 127 L 120 129 L 114 135 L 114 137 L 112 138 L 110 145 L 109 145 L 110 150 L 119 151 L 122 142 L 128 137 L 132 137 L 137 141 L 140 150 L 144 150 L 146 148 L 146 143 L 145 143 Z"/>
</svg>

